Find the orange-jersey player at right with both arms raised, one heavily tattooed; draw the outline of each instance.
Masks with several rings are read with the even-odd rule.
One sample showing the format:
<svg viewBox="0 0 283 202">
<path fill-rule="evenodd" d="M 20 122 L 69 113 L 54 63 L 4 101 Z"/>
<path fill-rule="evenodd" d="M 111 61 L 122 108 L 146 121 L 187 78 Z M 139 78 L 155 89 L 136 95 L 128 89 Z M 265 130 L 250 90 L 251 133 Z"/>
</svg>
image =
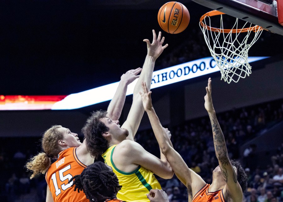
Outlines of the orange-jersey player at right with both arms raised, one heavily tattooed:
<svg viewBox="0 0 283 202">
<path fill-rule="evenodd" d="M 211 121 L 215 154 L 219 162 L 219 166 L 212 173 L 211 184 L 205 183 L 197 173 L 188 168 L 180 154 L 174 150 L 169 138 L 171 136 L 170 132 L 164 130 L 153 109 L 151 92 L 148 92 L 145 83 L 142 85 L 143 93 L 140 94 L 143 98 L 143 105 L 148 114 L 153 132 L 160 148 L 162 148 L 162 153 L 168 159 L 176 176 L 186 185 L 189 192 L 188 200 L 193 202 L 241 202 L 243 191 L 247 188 L 247 175 L 240 163 L 230 161 L 229 159 L 225 139 L 212 104 L 211 79 L 208 79 L 204 106 Z"/>
</svg>

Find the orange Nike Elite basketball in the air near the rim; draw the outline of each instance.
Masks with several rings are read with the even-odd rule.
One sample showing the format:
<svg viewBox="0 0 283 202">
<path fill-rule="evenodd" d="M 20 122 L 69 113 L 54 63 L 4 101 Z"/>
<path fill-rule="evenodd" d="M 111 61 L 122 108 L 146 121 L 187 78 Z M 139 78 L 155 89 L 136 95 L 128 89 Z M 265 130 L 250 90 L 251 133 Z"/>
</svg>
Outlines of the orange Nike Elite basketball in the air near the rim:
<svg viewBox="0 0 283 202">
<path fill-rule="evenodd" d="M 181 3 L 165 3 L 158 11 L 159 26 L 170 34 L 178 34 L 186 29 L 190 22 L 190 13 Z"/>
</svg>

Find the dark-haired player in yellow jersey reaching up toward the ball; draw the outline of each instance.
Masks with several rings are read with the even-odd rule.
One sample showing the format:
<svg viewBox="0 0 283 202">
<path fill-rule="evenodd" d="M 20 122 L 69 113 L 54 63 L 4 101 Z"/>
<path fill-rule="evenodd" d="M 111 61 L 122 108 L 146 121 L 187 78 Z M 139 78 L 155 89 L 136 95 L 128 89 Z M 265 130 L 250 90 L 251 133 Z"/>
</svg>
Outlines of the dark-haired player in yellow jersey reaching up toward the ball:
<svg viewBox="0 0 283 202">
<path fill-rule="evenodd" d="M 144 108 L 139 92 L 142 81 L 151 83 L 155 60 L 168 46 L 163 46 L 164 37 L 161 32 L 156 37 L 153 30 L 153 42 L 147 43 L 147 56 L 141 75 L 133 93 L 133 103 L 125 123 L 120 127 L 119 121 L 107 117 L 106 112 L 97 111 L 86 121 L 82 132 L 86 146 L 93 157 L 102 155 L 119 179 L 122 186 L 117 198 L 127 202 L 149 201 L 147 195 L 150 189 L 161 189 L 154 177 L 172 178 L 173 171 L 164 157 L 160 159 L 147 152 L 134 141 L 134 136 L 140 125 Z M 150 85 L 149 85 L 150 87 Z"/>
</svg>

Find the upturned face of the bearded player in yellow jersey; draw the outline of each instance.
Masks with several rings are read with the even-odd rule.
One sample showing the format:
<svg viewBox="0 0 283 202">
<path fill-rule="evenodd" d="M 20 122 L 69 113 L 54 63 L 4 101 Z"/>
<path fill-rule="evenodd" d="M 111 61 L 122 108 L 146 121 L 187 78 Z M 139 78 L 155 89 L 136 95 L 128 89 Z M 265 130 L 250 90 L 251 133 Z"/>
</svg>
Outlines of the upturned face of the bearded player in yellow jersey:
<svg viewBox="0 0 283 202">
<path fill-rule="evenodd" d="M 101 121 L 109 128 L 108 133 L 111 134 L 117 140 L 125 140 L 129 135 L 127 129 L 120 128 L 118 120 L 112 120 L 108 117 L 101 119 Z"/>
</svg>

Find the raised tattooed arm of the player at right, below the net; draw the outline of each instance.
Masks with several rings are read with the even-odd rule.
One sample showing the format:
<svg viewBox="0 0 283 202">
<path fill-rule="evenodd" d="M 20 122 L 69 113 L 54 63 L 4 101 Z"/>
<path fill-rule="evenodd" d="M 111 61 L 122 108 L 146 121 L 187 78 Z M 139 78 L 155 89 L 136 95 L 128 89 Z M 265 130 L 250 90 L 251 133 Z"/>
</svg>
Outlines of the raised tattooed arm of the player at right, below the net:
<svg viewBox="0 0 283 202">
<path fill-rule="evenodd" d="M 243 192 L 240 184 L 237 181 L 237 169 L 236 167 L 232 166 L 230 162 L 224 135 L 216 118 L 215 110 L 212 104 L 211 78 L 208 79 L 208 86 L 206 87 L 206 95 L 204 96 L 204 100 L 204 106 L 208 112 L 212 126 L 215 154 L 219 162 L 221 173 L 226 182 L 226 186 L 223 191 L 227 191 L 233 201 L 242 201 Z"/>
</svg>

